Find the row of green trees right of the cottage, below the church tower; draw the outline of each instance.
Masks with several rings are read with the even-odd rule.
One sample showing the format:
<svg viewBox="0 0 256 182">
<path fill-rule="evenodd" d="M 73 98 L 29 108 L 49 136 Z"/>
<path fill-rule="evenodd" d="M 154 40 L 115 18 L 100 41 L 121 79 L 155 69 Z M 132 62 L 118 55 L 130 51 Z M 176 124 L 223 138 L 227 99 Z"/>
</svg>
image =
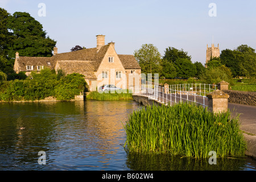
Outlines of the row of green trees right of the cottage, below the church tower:
<svg viewBox="0 0 256 182">
<path fill-rule="evenodd" d="M 225 49 L 220 57 L 211 57 L 205 67 L 183 49 L 168 47 L 161 56 L 153 44 L 143 44 L 134 51 L 135 59 L 142 68 L 142 73 L 159 73 L 160 78 L 191 78 L 196 77 L 209 84 L 225 80 L 232 82 L 233 77 L 247 76 L 252 80 L 256 77 L 255 49 L 241 45 L 234 50 Z"/>
</svg>

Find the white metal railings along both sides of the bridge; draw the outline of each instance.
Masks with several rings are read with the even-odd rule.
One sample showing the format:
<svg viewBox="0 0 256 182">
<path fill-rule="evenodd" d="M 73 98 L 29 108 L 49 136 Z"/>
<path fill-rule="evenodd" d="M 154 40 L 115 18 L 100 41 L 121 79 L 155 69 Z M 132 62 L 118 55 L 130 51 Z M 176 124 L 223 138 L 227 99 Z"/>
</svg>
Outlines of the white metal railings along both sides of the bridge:
<svg viewBox="0 0 256 182">
<path fill-rule="evenodd" d="M 142 84 L 133 86 L 133 95 L 146 96 L 166 105 L 178 102 L 195 102 L 204 107 L 208 106 L 207 94 L 216 90 L 217 85 L 211 84 L 179 84 L 160 86 Z"/>
</svg>

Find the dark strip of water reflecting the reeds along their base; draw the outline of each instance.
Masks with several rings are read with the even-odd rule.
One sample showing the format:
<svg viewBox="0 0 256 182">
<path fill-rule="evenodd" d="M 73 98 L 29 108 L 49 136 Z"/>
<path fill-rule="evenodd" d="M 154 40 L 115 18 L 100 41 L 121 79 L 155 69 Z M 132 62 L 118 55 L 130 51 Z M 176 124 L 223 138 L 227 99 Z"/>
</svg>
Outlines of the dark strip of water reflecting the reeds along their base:
<svg viewBox="0 0 256 182">
<path fill-rule="evenodd" d="M 128 154 L 127 167 L 140 171 L 239 171 L 256 170 L 255 160 L 247 157 L 217 158 L 210 165 L 209 159 L 195 159 L 166 154 Z M 254 163 L 251 165 L 251 162 Z"/>
</svg>

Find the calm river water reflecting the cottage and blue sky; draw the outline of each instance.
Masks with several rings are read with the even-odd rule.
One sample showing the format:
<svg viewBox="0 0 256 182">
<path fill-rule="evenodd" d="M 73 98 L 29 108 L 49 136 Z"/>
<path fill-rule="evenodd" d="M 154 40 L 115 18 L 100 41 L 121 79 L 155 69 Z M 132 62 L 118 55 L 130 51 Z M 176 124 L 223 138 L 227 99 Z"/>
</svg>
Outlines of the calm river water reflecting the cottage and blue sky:
<svg viewBox="0 0 256 182">
<path fill-rule="evenodd" d="M 0 170 L 256 170 L 242 157 L 195 160 L 127 154 L 123 124 L 134 101 L 0 103 Z M 39 164 L 39 151 L 46 164 Z M 43 162 L 43 160 L 39 160 Z"/>
</svg>

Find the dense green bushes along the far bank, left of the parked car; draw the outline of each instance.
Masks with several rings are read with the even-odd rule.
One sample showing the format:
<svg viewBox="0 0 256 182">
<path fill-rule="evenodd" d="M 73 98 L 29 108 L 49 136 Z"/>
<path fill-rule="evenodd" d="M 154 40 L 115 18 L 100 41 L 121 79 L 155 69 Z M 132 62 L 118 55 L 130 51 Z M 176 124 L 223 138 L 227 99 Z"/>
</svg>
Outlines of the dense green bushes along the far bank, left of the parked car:
<svg viewBox="0 0 256 182">
<path fill-rule="evenodd" d="M 62 71 L 42 69 L 32 72 L 25 80 L 5 81 L 0 85 L 0 101 L 35 101 L 47 97 L 72 100 L 86 87 L 84 76 L 78 73 L 65 75 Z"/>
</svg>

